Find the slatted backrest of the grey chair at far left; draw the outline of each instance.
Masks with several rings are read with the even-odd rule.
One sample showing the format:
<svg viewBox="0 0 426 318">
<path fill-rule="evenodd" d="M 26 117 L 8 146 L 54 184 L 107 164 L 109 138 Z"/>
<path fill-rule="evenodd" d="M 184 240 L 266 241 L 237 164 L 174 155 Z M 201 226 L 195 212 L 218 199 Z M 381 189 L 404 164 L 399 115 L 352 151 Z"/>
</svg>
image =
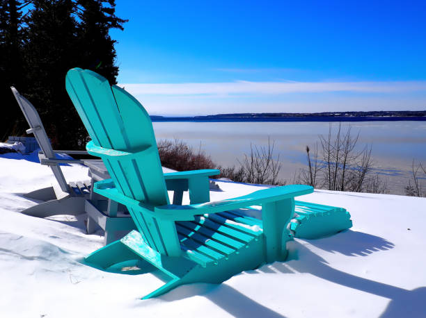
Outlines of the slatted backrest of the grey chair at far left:
<svg viewBox="0 0 426 318">
<path fill-rule="evenodd" d="M 47 133 L 45 131 L 45 127 L 42 124 L 40 116 L 36 108 L 34 108 L 33 104 L 31 104 L 25 97 L 23 97 L 15 87 L 10 87 L 13 94 L 15 95 L 15 99 L 24 113 L 26 122 L 28 122 L 30 128 L 26 130 L 26 133 L 33 133 L 34 137 L 40 146 L 40 149 L 45 154 L 46 158 L 54 159 L 56 158 L 55 152 L 52 149 L 52 144 L 50 144 L 49 137 L 47 137 Z M 51 165 L 56 181 L 58 181 L 59 186 L 63 192 L 69 192 L 68 183 L 63 176 L 61 168 L 58 165 Z"/>
</svg>

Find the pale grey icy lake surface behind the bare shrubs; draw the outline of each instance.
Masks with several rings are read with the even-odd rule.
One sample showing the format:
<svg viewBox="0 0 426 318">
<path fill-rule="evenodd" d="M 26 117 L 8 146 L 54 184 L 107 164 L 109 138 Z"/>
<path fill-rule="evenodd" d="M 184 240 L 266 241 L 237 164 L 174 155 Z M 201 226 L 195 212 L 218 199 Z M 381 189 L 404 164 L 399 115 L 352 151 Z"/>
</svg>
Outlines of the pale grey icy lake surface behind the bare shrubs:
<svg viewBox="0 0 426 318">
<path fill-rule="evenodd" d="M 280 178 L 290 181 L 306 165 L 306 146 L 328 135 L 329 122 L 155 122 L 157 140 L 180 139 L 201 149 L 224 167 L 238 165 L 251 144 L 267 146 L 283 163 Z M 333 133 L 338 123 L 331 123 Z M 342 130 L 359 133 L 357 149 L 372 147 L 374 172 L 387 181 L 390 193 L 404 194 L 413 160 L 426 164 L 426 122 L 345 122 Z"/>
</svg>

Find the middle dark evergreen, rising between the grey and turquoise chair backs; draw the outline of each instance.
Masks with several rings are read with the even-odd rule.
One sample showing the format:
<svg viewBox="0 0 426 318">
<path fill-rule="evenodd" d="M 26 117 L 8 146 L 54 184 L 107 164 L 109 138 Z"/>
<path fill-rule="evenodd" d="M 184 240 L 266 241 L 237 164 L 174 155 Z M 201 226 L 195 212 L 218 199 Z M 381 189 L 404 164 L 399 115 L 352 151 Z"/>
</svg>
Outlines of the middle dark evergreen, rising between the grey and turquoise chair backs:
<svg viewBox="0 0 426 318">
<path fill-rule="evenodd" d="M 65 90 L 65 74 L 79 57 L 74 3 L 36 0 L 33 6 L 24 47 L 29 78 L 25 95 L 36 106 L 54 147 L 76 148 L 86 132 Z"/>
</svg>

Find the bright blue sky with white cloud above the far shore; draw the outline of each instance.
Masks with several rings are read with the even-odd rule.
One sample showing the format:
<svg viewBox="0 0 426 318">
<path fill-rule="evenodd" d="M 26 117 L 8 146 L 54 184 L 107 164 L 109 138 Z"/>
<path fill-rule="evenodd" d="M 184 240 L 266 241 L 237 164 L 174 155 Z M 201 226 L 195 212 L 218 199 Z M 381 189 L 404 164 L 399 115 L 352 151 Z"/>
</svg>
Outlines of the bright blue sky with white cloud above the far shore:
<svg viewBox="0 0 426 318">
<path fill-rule="evenodd" d="M 426 110 L 426 1 L 116 1 L 151 114 Z"/>
</svg>

